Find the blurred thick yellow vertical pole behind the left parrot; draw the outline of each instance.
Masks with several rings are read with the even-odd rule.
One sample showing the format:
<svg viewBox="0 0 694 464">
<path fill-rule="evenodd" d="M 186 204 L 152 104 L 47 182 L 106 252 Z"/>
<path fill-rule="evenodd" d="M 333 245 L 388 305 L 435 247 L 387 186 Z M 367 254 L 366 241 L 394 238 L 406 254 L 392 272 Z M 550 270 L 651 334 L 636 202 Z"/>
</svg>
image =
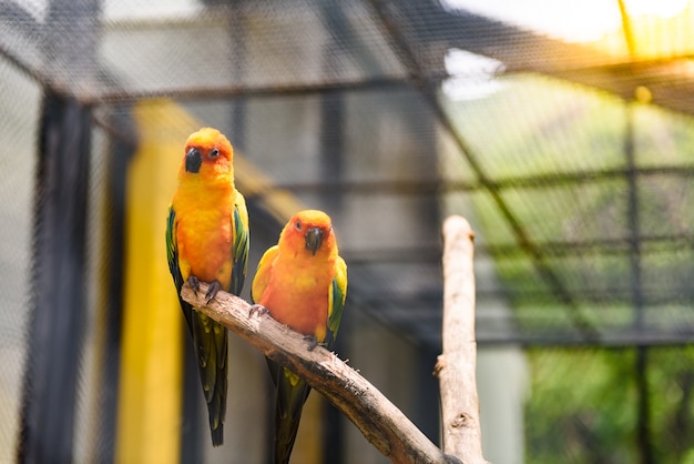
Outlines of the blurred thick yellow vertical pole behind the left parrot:
<svg viewBox="0 0 694 464">
<path fill-rule="evenodd" d="M 125 289 L 115 462 L 178 463 L 183 316 L 166 264 L 166 214 L 195 121 L 175 103 L 137 103 L 126 192 Z"/>
</svg>

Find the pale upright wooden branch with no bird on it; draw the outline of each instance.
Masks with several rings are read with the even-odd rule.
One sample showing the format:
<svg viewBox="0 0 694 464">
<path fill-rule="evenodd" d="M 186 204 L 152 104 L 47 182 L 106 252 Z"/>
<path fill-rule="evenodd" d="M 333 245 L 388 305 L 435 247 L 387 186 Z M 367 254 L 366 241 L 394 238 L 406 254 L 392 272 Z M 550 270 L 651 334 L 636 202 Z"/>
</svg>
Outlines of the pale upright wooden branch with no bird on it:
<svg viewBox="0 0 694 464">
<path fill-rule="evenodd" d="M 466 464 L 486 463 L 474 374 L 473 238 L 463 218 L 443 222 L 443 354 L 435 369 L 441 391 L 443 451 Z"/>
</svg>

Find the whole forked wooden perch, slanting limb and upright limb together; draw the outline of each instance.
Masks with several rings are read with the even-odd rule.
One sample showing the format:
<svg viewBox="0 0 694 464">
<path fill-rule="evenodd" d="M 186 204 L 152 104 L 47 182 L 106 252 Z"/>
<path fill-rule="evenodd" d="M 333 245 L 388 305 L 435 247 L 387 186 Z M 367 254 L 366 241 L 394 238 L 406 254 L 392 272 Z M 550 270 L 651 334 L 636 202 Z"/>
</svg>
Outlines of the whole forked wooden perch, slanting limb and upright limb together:
<svg viewBox="0 0 694 464">
<path fill-rule="evenodd" d="M 443 353 L 435 373 L 441 386 L 443 446 L 439 450 L 400 410 L 337 355 L 308 342 L 225 292 L 206 303 L 206 284 L 181 296 L 225 325 L 273 361 L 296 372 L 341 411 L 380 453 L 394 463 L 483 463 L 474 365 L 474 278 L 472 232 L 459 216 L 443 224 Z"/>
</svg>

